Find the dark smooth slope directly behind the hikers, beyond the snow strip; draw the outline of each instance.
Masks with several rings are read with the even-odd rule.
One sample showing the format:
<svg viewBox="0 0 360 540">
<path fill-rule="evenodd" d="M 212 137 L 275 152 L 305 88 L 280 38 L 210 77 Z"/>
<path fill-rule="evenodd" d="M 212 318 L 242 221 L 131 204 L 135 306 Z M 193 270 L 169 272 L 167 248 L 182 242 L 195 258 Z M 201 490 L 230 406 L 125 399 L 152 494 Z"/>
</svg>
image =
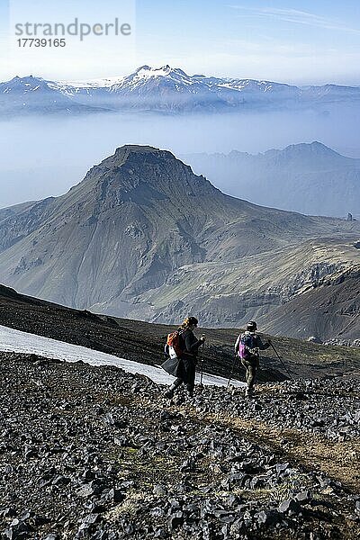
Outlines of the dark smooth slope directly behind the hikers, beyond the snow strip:
<svg viewBox="0 0 360 540">
<path fill-rule="evenodd" d="M 147 365 L 163 362 L 166 335 L 176 328 L 72 310 L 23 296 L 2 285 L 0 325 Z M 201 328 L 198 332 L 206 336 L 206 347 L 201 353 L 204 372 L 228 378 L 239 329 Z M 360 348 L 322 346 L 284 337 L 272 339 L 284 364 L 273 349 L 266 349 L 261 356 L 260 381 L 283 381 L 289 373 L 293 377 L 360 377 Z M 244 370 L 239 363 L 232 376 L 244 381 Z"/>
</svg>

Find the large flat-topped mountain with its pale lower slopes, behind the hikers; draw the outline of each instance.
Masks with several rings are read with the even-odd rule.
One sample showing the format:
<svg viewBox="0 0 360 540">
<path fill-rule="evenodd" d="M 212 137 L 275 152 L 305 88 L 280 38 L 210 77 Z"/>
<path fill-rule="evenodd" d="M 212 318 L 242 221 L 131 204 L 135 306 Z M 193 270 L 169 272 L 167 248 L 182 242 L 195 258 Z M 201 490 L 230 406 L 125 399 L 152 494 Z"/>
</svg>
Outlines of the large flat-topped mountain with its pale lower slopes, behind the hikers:
<svg viewBox="0 0 360 540">
<path fill-rule="evenodd" d="M 221 193 L 170 152 L 125 146 L 61 197 L 0 215 L 0 279 L 112 316 L 233 327 L 353 266 L 357 221 Z"/>
</svg>

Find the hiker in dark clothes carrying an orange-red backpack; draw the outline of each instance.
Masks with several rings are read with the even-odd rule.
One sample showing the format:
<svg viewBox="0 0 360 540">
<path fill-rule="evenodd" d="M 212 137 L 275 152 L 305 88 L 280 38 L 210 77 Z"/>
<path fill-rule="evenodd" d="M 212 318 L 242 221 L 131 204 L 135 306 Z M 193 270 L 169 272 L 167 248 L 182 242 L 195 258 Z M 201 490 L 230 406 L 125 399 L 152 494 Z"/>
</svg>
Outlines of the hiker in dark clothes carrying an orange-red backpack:
<svg viewBox="0 0 360 540">
<path fill-rule="evenodd" d="M 175 390 L 183 383 L 189 396 L 193 397 L 198 349 L 205 342 L 205 336 L 197 339 L 193 334 L 197 325 L 195 317 L 187 317 L 175 332 L 167 336 L 165 347 L 168 358 L 161 367 L 176 377 L 164 394 L 168 399 L 174 397 Z"/>
</svg>

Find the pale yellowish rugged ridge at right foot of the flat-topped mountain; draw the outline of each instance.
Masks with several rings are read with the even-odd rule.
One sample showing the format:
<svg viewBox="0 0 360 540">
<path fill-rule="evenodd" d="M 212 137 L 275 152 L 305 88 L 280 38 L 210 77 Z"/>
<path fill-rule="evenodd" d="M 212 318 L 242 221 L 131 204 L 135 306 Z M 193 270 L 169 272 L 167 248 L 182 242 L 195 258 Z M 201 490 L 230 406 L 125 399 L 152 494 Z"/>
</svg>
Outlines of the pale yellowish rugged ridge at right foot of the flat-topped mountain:
<svg viewBox="0 0 360 540">
<path fill-rule="evenodd" d="M 166 287 L 139 295 L 139 306 L 135 304 L 131 316 L 141 318 L 146 303 L 154 313 L 151 320 L 158 322 L 192 311 L 215 328 L 231 328 L 260 317 L 263 324 L 271 324 L 275 307 L 295 296 L 299 300 L 324 278 L 336 278 L 356 266 L 356 238 L 305 240 L 229 263 L 181 267 L 166 280 Z M 328 317 L 331 325 L 331 313 Z M 341 319 L 345 323 L 345 315 Z M 286 335 L 280 329 L 276 332 Z"/>
</svg>

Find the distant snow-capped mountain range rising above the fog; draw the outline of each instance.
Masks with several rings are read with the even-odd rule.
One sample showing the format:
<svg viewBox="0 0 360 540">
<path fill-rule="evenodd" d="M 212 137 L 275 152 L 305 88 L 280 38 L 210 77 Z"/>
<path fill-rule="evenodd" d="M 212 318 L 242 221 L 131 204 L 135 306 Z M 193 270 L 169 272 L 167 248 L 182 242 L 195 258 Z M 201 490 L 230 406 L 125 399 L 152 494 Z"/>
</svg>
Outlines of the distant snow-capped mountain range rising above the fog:
<svg viewBox="0 0 360 540">
<path fill-rule="evenodd" d="M 182 69 L 142 66 L 129 76 L 85 82 L 15 76 L 0 84 L 2 115 L 49 112 L 241 112 L 318 108 L 357 103 L 359 86 L 295 86 L 264 80 L 187 75 Z"/>
</svg>

